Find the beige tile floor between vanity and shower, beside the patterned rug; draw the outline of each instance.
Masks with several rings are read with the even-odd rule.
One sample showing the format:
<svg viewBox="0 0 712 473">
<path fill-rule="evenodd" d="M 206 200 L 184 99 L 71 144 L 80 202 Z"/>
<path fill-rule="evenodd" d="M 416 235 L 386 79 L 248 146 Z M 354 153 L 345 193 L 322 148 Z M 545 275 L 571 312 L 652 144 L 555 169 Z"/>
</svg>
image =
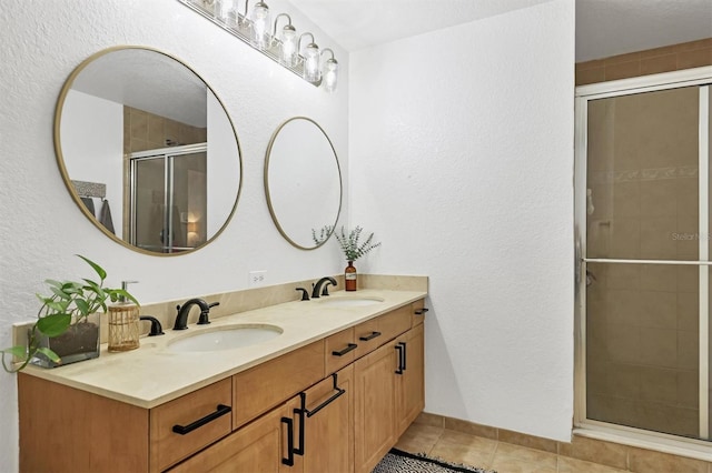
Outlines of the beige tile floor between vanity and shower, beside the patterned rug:
<svg viewBox="0 0 712 473">
<path fill-rule="evenodd" d="M 448 462 L 496 470 L 497 473 L 614 473 L 624 471 L 422 423 L 411 425 L 396 447 L 411 453 L 424 452 Z"/>
</svg>

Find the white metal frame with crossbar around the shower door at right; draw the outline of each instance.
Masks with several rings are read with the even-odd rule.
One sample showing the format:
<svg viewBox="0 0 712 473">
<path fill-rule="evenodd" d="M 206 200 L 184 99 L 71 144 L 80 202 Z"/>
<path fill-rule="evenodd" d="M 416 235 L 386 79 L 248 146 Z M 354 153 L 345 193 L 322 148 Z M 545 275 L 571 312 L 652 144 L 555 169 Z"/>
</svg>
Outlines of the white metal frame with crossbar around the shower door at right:
<svg viewBox="0 0 712 473">
<path fill-rule="evenodd" d="M 710 335 L 709 335 L 709 242 L 700 244 L 699 261 L 666 260 L 617 260 L 589 259 L 586 256 L 586 154 L 587 154 L 587 104 L 591 100 L 629 95 L 642 92 L 679 89 L 683 87 L 708 85 L 700 89 L 700 133 L 699 133 L 699 179 L 700 179 L 700 234 L 710 234 L 710 89 L 712 89 L 712 67 L 665 72 L 632 79 L 623 79 L 580 85 L 575 89 L 575 134 L 574 134 L 574 239 L 575 239 L 575 311 L 574 311 L 574 433 L 585 436 L 629 443 L 635 446 L 663 449 L 671 453 L 685 452 L 694 456 L 712 460 L 709 424 L 710 386 Z M 706 113 L 704 113 L 706 111 Z M 704 119 L 703 119 L 704 117 Z M 704 159 L 702 157 L 704 155 Z M 703 181 L 704 177 L 704 183 Z M 703 185 L 702 185 L 703 184 Z M 704 205 L 702 205 L 704 203 Z M 704 246 L 704 251 L 703 248 Z M 706 260 L 706 261 L 705 261 Z M 700 436 L 708 440 L 688 439 L 673 434 L 646 431 L 637 427 L 594 421 L 586 417 L 586 264 L 643 263 L 643 264 L 694 264 L 700 266 Z M 703 355 L 704 353 L 704 355 Z"/>
</svg>

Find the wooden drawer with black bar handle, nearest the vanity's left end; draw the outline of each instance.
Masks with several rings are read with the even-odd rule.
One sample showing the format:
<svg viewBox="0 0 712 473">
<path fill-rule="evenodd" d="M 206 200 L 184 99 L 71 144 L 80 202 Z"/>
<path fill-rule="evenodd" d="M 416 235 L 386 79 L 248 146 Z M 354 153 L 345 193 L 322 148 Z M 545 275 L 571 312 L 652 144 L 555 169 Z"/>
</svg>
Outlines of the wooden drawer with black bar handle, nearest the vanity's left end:
<svg viewBox="0 0 712 473">
<path fill-rule="evenodd" d="M 166 470 L 228 435 L 233 431 L 231 391 L 227 379 L 151 409 L 151 471 Z"/>
</svg>

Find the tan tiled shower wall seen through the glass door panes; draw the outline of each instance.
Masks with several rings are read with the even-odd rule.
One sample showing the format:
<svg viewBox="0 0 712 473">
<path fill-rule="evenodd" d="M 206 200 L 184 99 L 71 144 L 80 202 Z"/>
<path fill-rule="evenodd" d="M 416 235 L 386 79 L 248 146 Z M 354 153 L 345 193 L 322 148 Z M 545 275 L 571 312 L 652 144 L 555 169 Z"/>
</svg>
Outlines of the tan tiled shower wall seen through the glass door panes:
<svg viewBox="0 0 712 473">
<path fill-rule="evenodd" d="M 698 259 L 698 100 L 589 103 L 589 258 Z M 698 436 L 698 266 L 587 269 L 587 417 Z"/>
</svg>

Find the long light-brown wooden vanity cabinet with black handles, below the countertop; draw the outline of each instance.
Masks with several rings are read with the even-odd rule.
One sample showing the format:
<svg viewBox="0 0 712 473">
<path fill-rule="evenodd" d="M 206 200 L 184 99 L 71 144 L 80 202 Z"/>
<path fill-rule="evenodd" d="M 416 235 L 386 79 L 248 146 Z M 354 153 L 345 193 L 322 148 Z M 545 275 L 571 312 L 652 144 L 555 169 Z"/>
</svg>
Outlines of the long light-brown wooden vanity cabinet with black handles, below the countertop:
<svg viewBox="0 0 712 473">
<path fill-rule="evenodd" d="M 424 406 L 418 308 L 150 410 L 20 373 L 20 471 L 370 472 Z"/>
</svg>

